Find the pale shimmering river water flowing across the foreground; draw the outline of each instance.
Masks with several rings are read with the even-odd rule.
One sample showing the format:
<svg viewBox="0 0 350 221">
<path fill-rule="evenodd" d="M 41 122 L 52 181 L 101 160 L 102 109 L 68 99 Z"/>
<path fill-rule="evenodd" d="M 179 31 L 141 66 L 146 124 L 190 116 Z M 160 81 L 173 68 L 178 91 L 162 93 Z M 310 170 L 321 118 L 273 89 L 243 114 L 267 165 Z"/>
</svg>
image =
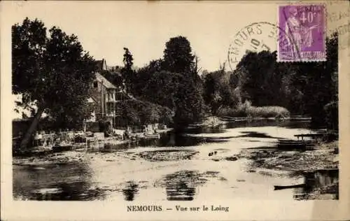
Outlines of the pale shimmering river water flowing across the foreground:
<svg viewBox="0 0 350 221">
<path fill-rule="evenodd" d="M 276 148 L 278 138 L 309 133 L 308 124 L 259 121 L 189 127 L 182 134 L 162 134 L 160 139 L 84 150 L 79 162 L 15 165 L 13 197 L 66 201 L 299 199 L 313 187 L 335 182 L 337 174 L 250 171 L 247 159 L 225 157 L 244 148 Z M 304 182 L 311 182 L 311 187 L 274 190 L 274 185 Z"/>
</svg>

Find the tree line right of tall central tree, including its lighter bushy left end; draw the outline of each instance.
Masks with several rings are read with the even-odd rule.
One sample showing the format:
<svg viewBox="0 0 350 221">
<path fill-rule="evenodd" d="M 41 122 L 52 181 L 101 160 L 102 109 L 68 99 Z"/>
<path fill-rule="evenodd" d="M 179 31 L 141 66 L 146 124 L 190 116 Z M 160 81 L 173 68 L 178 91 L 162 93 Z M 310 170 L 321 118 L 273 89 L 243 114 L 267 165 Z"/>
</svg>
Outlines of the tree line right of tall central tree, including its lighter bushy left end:
<svg viewBox="0 0 350 221">
<path fill-rule="evenodd" d="M 326 39 L 326 62 L 276 62 L 276 52 L 248 52 L 235 71 L 205 75 L 204 101 L 213 113 L 245 101 L 253 106 L 281 106 L 290 113 L 309 115 L 314 127 L 337 129 L 337 50 L 335 33 Z"/>
</svg>

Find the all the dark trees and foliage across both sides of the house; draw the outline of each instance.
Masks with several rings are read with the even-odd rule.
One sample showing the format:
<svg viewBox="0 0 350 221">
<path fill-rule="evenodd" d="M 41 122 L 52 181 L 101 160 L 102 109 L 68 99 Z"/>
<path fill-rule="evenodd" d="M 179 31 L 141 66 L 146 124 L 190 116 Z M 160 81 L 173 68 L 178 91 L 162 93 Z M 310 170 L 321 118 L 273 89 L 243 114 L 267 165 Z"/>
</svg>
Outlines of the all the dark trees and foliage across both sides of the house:
<svg viewBox="0 0 350 221">
<path fill-rule="evenodd" d="M 25 19 L 12 27 L 13 93 L 18 105 L 31 109 L 33 122 L 25 147 L 45 112 L 55 128 L 79 127 L 90 113 L 87 105 L 94 59 L 83 51 L 78 38 L 43 22 Z M 338 36 L 326 39 L 326 62 L 276 62 L 276 52 L 247 52 L 235 71 L 225 64 L 203 71 L 190 41 L 170 38 L 164 55 L 134 70 L 133 56 L 124 48 L 123 68 L 102 71 L 111 83 L 137 99 L 120 103 L 129 125 L 163 122 L 183 129 L 204 114 L 241 117 L 310 115 L 316 127 L 337 129 Z"/>
</svg>

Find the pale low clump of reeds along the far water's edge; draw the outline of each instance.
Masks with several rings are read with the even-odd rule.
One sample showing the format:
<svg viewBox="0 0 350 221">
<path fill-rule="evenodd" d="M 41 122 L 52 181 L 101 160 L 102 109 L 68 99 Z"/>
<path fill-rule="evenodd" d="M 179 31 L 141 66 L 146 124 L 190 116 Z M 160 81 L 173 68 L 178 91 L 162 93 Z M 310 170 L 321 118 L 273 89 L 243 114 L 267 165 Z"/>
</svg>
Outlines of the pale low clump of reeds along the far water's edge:
<svg viewBox="0 0 350 221">
<path fill-rule="evenodd" d="M 251 102 L 246 101 L 236 108 L 222 108 L 218 111 L 219 117 L 251 117 L 251 118 L 285 118 L 290 117 L 286 108 L 281 106 L 251 106 Z"/>
</svg>

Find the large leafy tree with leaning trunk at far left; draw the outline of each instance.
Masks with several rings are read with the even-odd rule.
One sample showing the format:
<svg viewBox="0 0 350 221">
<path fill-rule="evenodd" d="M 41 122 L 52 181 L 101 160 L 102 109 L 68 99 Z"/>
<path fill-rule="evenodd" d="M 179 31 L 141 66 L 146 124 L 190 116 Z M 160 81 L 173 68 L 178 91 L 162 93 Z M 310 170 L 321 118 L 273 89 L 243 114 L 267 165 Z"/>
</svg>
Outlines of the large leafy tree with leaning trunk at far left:
<svg viewBox="0 0 350 221">
<path fill-rule="evenodd" d="M 12 27 L 13 94 L 22 94 L 20 105 L 35 103 L 38 109 L 22 139 L 26 148 L 41 115 L 86 117 L 83 106 L 94 78 L 94 59 L 78 41 L 52 27 L 49 36 L 39 20 L 26 18 Z"/>
</svg>

